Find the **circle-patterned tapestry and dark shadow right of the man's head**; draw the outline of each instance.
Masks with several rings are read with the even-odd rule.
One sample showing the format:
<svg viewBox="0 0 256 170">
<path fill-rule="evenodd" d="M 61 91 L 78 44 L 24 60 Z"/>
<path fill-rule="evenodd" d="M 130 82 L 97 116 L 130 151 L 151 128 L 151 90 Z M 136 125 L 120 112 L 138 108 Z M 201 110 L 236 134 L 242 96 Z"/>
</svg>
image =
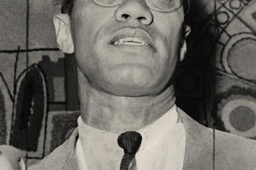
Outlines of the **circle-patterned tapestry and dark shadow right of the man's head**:
<svg viewBox="0 0 256 170">
<path fill-rule="evenodd" d="M 256 139 L 256 0 L 195 0 L 186 20 L 180 107 L 208 127 Z"/>
</svg>

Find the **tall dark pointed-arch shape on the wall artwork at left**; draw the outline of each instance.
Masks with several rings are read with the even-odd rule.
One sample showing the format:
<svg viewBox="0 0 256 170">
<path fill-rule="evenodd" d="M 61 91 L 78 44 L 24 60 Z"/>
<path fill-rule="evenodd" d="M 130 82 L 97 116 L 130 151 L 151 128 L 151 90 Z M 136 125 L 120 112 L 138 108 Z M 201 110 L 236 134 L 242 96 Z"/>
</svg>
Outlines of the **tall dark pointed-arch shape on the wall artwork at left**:
<svg viewBox="0 0 256 170">
<path fill-rule="evenodd" d="M 44 115 L 47 113 L 47 92 L 44 75 L 31 65 L 17 79 L 14 122 L 10 144 L 21 150 L 37 151 Z"/>
</svg>

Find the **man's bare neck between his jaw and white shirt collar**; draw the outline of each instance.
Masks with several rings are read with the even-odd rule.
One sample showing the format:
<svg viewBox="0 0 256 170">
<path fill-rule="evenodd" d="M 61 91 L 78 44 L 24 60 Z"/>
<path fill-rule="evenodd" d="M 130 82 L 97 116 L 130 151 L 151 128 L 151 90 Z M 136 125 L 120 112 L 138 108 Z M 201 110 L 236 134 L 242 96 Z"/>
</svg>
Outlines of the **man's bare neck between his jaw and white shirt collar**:
<svg viewBox="0 0 256 170">
<path fill-rule="evenodd" d="M 138 130 L 165 114 L 175 104 L 173 86 L 156 96 L 115 96 L 92 88 L 78 76 L 81 118 L 91 127 L 122 133 Z"/>
</svg>

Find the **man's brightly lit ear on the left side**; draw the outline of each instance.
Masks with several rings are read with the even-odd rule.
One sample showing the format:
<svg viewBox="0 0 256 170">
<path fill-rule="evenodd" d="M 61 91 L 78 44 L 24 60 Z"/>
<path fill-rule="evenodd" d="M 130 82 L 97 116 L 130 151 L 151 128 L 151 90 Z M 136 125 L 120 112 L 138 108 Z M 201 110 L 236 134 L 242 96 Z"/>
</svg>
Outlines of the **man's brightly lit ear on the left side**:
<svg viewBox="0 0 256 170">
<path fill-rule="evenodd" d="M 69 14 L 57 14 L 53 17 L 57 43 L 61 51 L 72 54 L 74 52 L 74 42 L 70 29 Z"/>
</svg>

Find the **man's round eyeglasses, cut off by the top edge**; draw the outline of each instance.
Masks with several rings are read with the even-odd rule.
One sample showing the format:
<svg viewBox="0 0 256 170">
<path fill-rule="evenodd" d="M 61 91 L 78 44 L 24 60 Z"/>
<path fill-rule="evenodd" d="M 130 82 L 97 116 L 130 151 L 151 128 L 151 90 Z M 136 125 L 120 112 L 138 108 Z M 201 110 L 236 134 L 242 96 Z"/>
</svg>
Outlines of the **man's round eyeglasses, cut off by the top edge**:
<svg viewBox="0 0 256 170">
<path fill-rule="evenodd" d="M 145 0 L 145 1 L 148 4 L 149 8 L 159 12 L 174 12 L 177 9 L 181 8 L 184 3 L 183 2 L 184 0 Z M 185 1 L 188 2 L 188 0 L 185 0 Z M 121 4 L 123 0 L 93 0 L 93 2 L 99 6 L 114 7 Z"/>
</svg>

